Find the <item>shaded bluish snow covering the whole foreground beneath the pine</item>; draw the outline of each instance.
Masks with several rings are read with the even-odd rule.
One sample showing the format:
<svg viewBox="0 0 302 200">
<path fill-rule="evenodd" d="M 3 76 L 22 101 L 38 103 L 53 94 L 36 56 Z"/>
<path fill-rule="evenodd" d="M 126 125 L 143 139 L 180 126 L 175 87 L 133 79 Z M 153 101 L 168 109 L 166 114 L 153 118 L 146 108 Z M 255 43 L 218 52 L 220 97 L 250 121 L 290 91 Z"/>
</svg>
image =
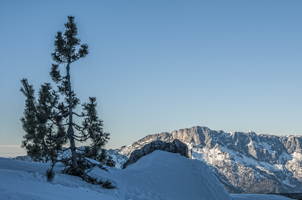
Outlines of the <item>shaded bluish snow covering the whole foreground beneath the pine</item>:
<svg viewBox="0 0 302 200">
<path fill-rule="evenodd" d="M 0 199 L 290 199 L 279 195 L 229 195 L 206 164 L 179 154 L 155 151 L 140 158 L 126 169 L 98 166 L 88 174 L 111 180 L 116 189 L 104 189 L 60 173 L 62 164 L 54 167 L 55 177 L 47 181 L 47 163 L 32 163 L 0 158 Z"/>
</svg>

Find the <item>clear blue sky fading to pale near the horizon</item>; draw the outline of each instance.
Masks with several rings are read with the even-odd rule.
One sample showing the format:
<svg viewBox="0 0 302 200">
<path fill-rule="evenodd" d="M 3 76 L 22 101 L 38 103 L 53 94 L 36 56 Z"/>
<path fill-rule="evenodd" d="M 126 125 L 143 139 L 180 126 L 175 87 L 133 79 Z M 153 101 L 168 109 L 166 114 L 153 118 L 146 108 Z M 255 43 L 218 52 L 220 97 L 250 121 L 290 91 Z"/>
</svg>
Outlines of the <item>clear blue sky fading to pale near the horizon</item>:
<svg viewBox="0 0 302 200">
<path fill-rule="evenodd" d="M 72 86 L 81 102 L 97 97 L 106 148 L 193 126 L 301 135 L 301 10 L 294 0 L 0 1 L 0 156 L 26 154 L 20 80 L 36 92 L 51 82 L 70 15 L 89 46 Z"/>
</svg>

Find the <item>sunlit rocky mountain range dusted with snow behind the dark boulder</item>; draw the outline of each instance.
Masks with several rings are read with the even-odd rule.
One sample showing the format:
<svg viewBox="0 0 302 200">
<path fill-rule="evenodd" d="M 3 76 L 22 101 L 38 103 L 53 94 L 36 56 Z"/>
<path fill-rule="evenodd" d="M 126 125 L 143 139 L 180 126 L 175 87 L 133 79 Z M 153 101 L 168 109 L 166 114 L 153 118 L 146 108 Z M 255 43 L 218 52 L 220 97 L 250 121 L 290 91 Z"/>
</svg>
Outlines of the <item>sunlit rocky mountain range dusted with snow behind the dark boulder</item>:
<svg viewBox="0 0 302 200">
<path fill-rule="evenodd" d="M 179 139 L 192 149 L 192 158 L 205 162 L 230 193 L 302 192 L 302 136 L 214 131 L 192 127 L 146 136 L 132 145 L 110 150 L 116 157 L 153 140 Z M 190 157 L 189 153 L 189 157 Z M 117 159 L 117 166 L 127 158 Z M 122 158 L 122 159 L 121 159 Z"/>
</svg>

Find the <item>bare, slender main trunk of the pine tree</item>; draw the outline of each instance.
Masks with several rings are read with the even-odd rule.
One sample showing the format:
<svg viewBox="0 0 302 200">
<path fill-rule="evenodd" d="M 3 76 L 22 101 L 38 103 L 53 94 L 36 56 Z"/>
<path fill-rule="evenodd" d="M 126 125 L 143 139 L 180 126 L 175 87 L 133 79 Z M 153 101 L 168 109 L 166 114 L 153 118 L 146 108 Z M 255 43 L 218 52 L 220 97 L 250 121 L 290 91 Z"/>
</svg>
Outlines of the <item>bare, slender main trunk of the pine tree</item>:
<svg viewBox="0 0 302 200">
<path fill-rule="evenodd" d="M 77 163 L 77 156 L 76 156 L 76 143 L 74 139 L 74 130 L 72 127 L 72 90 L 71 90 L 71 83 L 70 83 L 70 75 L 69 75 L 69 67 L 70 62 L 68 62 L 66 67 L 67 72 L 67 82 L 68 82 L 68 95 L 69 95 L 69 121 L 68 121 L 68 130 L 67 130 L 67 136 L 69 138 L 70 142 L 70 150 L 71 150 L 71 161 L 72 161 L 72 167 L 75 170 L 75 175 L 79 175 L 79 167 Z"/>
</svg>

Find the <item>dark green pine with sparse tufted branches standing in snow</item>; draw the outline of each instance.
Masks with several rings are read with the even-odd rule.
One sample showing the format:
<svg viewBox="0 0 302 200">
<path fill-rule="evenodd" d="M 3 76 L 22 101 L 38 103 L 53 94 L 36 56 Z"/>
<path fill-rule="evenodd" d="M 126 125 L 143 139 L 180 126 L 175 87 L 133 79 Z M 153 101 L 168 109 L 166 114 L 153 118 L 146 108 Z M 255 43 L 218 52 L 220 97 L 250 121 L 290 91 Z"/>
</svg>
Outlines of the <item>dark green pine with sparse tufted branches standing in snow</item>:
<svg viewBox="0 0 302 200">
<path fill-rule="evenodd" d="M 33 85 L 27 79 L 21 80 L 23 87 L 20 89 L 26 97 L 24 116 L 21 117 L 26 132 L 22 147 L 34 161 L 52 163 L 47 172 L 50 178 L 54 175 L 52 169 L 56 162 L 69 165 L 70 174 L 83 177 L 81 171 L 84 170 L 81 170 L 79 163 L 83 160 L 89 162 L 85 157 L 98 157 L 110 139 L 109 133 L 103 132 L 103 121 L 98 118 L 95 97 L 89 97 L 89 102 L 82 104 L 84 112 L 74 112 L 80 99 L 71 87 L 70 65 L 88 55 L 88 45 L 80 44 L 81 40 L 76 37 L 74 17 L 68 17 L 64 25 L 66 31 L 57 32 L 55 52 L 51 54 L 55 64 L 52 64 L 50 76 L 58 84 L 57 89 L 53 89 L 50 83 L 44 83 L 39 89 L 38 99 L 35 98 Z M 66 76 L 60 73 L 60 64 L 66 66 Z M 82 124 L 74 123 L 73 117 L 83 117 Z M 91 143 L 83 150 L 76 148 L 75 141 Z M 67 144 L 70 144 L 68 148 L 62 148 Z M 71 151 L 71 156 L 59 158 L 65 151 Z"/>
</svg>

